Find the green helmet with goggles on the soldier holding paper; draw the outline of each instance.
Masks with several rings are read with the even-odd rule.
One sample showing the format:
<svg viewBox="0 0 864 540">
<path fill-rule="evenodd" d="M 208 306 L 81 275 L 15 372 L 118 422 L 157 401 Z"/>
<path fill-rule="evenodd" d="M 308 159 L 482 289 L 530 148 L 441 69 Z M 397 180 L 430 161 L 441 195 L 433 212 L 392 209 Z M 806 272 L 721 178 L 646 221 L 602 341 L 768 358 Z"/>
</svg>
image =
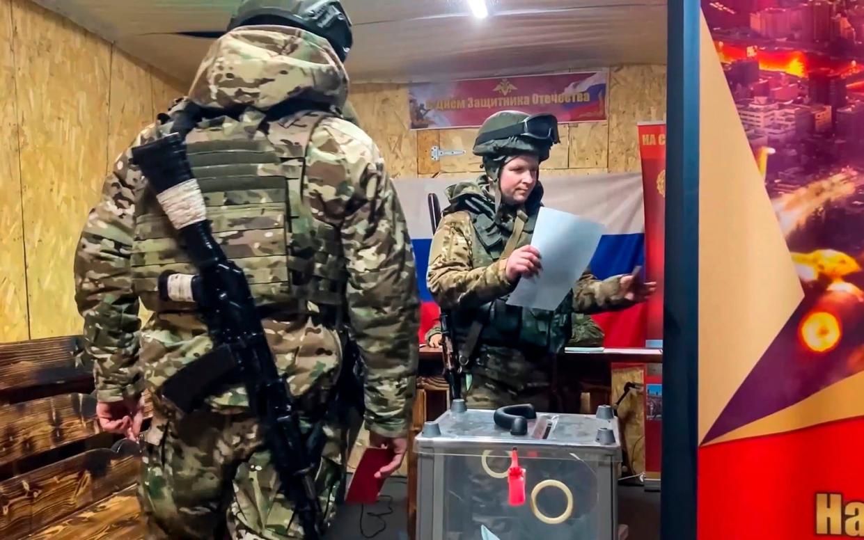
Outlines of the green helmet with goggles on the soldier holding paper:
<svg viewBox="0 0 864 540">
<path fill-rule="evenodd" d="M 559 143 L 555 115 L 530 116 L 521 111 L 500 111 L 486 118 L 474 141 L 474 156 L 500 157 L 533 154 L 541 162 L 549 159 L 553 144 Z"/>
</svg>

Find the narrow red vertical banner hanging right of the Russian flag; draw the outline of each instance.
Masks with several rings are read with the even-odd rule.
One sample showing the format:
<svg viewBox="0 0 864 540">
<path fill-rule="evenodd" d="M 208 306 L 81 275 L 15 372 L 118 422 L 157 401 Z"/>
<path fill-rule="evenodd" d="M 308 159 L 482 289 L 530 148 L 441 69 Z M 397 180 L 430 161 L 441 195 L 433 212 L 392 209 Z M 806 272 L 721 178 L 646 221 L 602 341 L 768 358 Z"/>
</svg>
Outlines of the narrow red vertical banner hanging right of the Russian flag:
<svg viewBox="0 0 864 540">
<path fill-rule="evenodd" d="M 666 220 L 666 124 L 638 124 L 645 194 L 645 278 L 658 283 L 648 300 L 645 346 L 663 347 L 663 278 Z"/>
</svg>

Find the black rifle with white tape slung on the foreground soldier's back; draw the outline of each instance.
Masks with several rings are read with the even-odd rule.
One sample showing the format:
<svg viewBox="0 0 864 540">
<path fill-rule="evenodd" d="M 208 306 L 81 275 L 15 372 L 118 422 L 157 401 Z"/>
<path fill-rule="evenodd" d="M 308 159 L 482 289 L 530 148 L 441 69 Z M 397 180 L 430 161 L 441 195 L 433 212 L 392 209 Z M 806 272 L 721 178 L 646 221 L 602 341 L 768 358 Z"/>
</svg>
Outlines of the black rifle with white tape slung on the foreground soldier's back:
<svg viewBox="0 0 864 540">
<path fill-rule="evenodd" d="M 172 223 L 180 223 L 177 232 L 181 245 L 199 272 L 187 282 L 186 292 L 179 296 L 187 297 L 191 292 L 204 314 L 214 344 L 213 351 L 168 379 L 161 394 L 181 410 L 190 412 L 198 406 L 200 396 L 206 395 L 206 391 L 202 391 L 206 387 L 217 388 L 231 377 L 241 379 L 251 410 L 264 427 L 267 448 L 279 474 L 280 490 L 295 504 L 304 538 L 320 540 L 323 536 L 321 505 L 314 474 L 325 440 L 321 433 L 323 422 L 318 422 L 304 444 L 295 399 L 276 369 L 246 276 L 213 238 L 210 222 L 206 217 L 202 219 L 204 200 L 194 185 L 196 181 L 181 135 L 171 133 L 138 146 L 132 149 L 132 158 L 156 194 L 170 189 L 175 191 L 169 194 L 178 190 L 186 193 L 183 199 L 188 204 L 163 206 Z M 190 186 L 192 190 L 186 191 Z M 190 207 L 196 206 L 199 217 L 197 220 L 188 218 Z M 176 219 L 178 213 L 180 219 Z M 177 299 L 174 288 L 179 281 L 174 279 L 172 283 L 168 274 L 160 276 L 160 295 Z"/>
</svg>

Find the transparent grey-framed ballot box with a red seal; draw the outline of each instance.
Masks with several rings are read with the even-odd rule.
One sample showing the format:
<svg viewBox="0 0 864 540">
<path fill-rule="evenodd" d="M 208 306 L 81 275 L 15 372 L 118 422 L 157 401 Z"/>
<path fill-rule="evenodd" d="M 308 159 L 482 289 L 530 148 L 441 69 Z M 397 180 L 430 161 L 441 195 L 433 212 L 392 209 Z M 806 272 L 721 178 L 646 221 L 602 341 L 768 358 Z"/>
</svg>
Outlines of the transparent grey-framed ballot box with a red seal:
<svg viewBox="0 0 864 540">
<path fill-rule="evenodd" d="M 454 400 L 414 442 L 416 540 L 616 540 L 618 419 Z"/>
</svg>

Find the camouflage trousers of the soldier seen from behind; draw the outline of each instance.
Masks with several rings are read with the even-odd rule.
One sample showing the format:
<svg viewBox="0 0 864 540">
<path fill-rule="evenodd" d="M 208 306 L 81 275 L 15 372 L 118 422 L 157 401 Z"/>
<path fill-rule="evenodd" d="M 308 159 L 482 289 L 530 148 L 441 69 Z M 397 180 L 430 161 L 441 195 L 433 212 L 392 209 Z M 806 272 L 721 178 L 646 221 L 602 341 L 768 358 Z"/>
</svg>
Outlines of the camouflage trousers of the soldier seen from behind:
<svg viewBox="0 0 864 540">
<path fill-rule="evenodd" d="M 316 475 L 321 510 L 332 522 L 343 491 L 343 431 L 327 425 Z M 282 540 L 302 538 L 294 506 L 264 448 L 262 429 L 246 413 L 196 411 L 172 419 L 155 407 L 143 437 L 138 498 L 147 538 Z"/>
</svg>

